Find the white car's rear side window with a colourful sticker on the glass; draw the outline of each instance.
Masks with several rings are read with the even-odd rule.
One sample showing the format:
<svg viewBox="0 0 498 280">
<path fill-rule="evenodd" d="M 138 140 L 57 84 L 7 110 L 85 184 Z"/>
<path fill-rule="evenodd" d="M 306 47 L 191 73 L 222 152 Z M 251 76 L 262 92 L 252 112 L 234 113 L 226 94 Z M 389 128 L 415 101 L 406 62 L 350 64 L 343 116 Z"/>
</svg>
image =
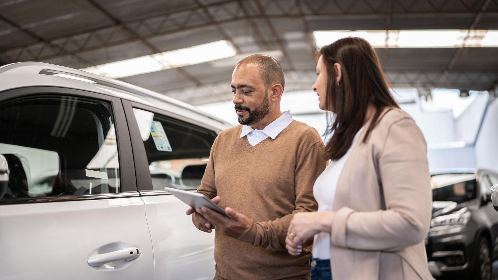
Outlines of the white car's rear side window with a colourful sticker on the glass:
<svg viewBox="0 0 498 280">
<path fill-rule="evenodd" d="M 133 109 L 149 164 L 152 187 L 197 189 L 216 134 L 199 126 Z"/>
</svg>

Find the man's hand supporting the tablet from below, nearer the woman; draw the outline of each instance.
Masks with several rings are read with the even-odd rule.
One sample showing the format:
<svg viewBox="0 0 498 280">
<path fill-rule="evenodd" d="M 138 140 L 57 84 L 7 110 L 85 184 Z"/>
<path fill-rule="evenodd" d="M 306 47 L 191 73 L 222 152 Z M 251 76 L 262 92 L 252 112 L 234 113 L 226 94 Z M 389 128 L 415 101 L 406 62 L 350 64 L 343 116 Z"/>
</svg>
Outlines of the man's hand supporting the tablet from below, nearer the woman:
<svg viewBox="0 0 498 280">
<path fill-rule="evenodd" d="M 241 214 L 234 209 L 227 207 L 225 213 L 230 218 L 227 218 L 220 213 L 204 206 L 202 209 L 197 209 L 215 229 L 221 231 L 224 235 L 232 238 L 239 238 L 252 224 L 252 221 L 244 214 Z"/>
</svg>

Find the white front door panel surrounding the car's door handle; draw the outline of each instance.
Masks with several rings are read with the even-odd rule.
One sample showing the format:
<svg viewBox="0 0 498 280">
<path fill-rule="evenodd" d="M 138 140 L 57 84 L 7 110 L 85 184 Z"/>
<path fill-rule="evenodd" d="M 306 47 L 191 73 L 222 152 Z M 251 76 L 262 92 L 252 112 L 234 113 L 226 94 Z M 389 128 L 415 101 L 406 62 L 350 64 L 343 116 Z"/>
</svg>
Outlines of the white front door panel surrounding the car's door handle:
<svg viewBox="0 0 498 280">
<path fill-rule="evenodd" d="M 154 279 L 138 196 L 0 205 L 0 236 L 2 280 Z M 117 242 L 139 248 L 140 256 L 114 268 L 87 264 L 96 250 Z"/>
</svg>

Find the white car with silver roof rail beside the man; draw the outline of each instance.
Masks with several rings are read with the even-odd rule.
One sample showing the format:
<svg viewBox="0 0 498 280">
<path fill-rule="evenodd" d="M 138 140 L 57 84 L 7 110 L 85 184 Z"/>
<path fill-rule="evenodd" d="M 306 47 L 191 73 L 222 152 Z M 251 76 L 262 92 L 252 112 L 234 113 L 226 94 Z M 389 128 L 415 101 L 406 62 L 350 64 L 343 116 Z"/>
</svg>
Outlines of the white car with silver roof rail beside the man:
<svg viewBox="0 0 498 280">
<path fill-rule="evenodd" d="M 213 279 L 214 233 L 164 187 L 197 189 L 229 127 L 85 71 L 0 67 L 0 279 Z"/>
</svg>

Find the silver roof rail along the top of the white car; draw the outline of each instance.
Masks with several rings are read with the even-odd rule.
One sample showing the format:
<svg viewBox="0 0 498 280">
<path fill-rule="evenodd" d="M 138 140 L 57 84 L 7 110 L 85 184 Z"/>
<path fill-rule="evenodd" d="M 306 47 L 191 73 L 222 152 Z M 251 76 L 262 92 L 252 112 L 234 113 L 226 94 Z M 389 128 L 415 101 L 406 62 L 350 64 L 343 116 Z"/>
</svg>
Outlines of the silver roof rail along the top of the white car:
<svg viewBox="0 0 498 280">
<path fill-rule="evenodd" d="M 214 121 L 220 122 L 222 124 L 227 124 L 226 122 L 219 120 L 217 118 L 214 118 L 212 116 L 209 116 L 208 114 L 202 112 L 199 108 L 190 105 L 188 103 L 185 103 L 183 101 L 176 100 L 171 97 L 164 96 L 162 94 L 153 92 L 151 90 L 147 90 L 132 84 L 128 84 L 123 81 L 107 78 L 104 76 L 100 76 L 97 74 L 93 74 L 87 71 L 79 70 L 79 69 L 74 69 L 74 68 L 69 68 L 65 66 L 59 66 L 55 64 L 50 64 L 50 63 L 44 63 L 44 62 L 35 62 L 35 61 L 28 61 L 28 62 L 16 62 L 16 63 L 11 63 L 7 64 L 4 66 L 0 67 L 0 74 L 40 74 L 40 72 L 51 72 L 54 74 L 66 74 L 66 75 L 71 75 L 83 79 L 90 80 L 92 82 L 95 82 L 100 85 L 104 86 L 109 86 L 112 88 L 117 88 L 120 90 L 124 90 L 127 92 L 134 93 L 139 96 L 143 97 L 148 97 L 155 99 L 157 101 L 165 102 L 170 105 L 174 106 L 179 106 L 185 110 L 188 110 L 190 112 L 196 113 L 198 115 L 202 115 L 206 118 L 212 119 Z M 42 73 L 43 74 L 43 73 Z"/>
</svg>

